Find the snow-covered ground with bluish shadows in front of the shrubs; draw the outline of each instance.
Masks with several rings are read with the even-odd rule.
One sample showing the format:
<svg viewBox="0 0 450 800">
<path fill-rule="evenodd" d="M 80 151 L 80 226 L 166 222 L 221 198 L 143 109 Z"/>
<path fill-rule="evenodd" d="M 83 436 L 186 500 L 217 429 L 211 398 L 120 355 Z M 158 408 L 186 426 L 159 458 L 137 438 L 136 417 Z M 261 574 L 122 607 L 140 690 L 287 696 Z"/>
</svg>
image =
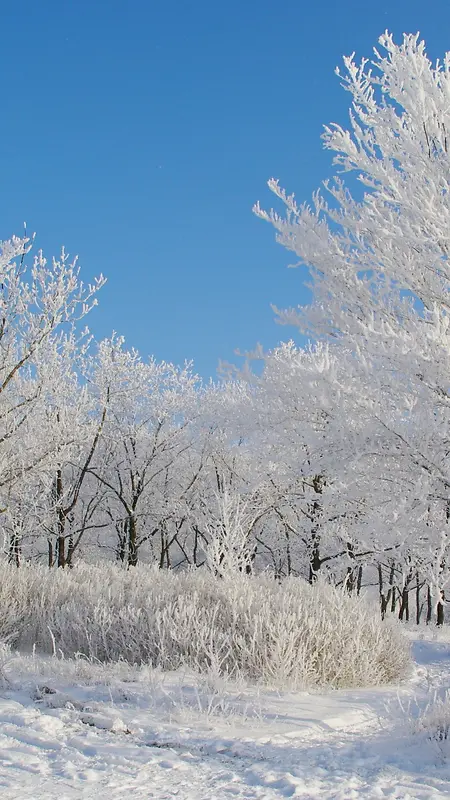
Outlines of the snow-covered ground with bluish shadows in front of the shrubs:
<svg viewBox="0 0 450 800">
<path fill-rule="evenodd" d="M 407 683 L 326 693 L 5 652 L 0 797 L 450 798 L 450 742 L 411 722 L 450 686 L 450 636 L 422 635 Z"/>
</svg>

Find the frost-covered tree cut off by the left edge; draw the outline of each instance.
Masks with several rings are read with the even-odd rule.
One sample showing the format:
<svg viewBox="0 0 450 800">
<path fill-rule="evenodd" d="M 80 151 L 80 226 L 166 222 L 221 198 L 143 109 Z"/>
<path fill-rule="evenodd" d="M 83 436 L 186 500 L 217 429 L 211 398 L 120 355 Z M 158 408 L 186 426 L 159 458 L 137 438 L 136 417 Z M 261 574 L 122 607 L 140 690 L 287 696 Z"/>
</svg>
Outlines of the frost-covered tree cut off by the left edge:
<svg viewBox="0 0 450 800">
<path fill-rule="evenodd" d="M 0 506 L 14 558 L 23 530 L 14 509 L 28 507 L 30 480 L 63 446 L 48 402 L 55 382 L 64 380 L 57 362 L 83 350 L 86 332 L 77 326 L 104 282 L 85 287 L 76 259 L 64 251 L 51 263 L 38 253 L 28 265 L 29 250 L 27 238 L 0 244 Z"/>
</svg>

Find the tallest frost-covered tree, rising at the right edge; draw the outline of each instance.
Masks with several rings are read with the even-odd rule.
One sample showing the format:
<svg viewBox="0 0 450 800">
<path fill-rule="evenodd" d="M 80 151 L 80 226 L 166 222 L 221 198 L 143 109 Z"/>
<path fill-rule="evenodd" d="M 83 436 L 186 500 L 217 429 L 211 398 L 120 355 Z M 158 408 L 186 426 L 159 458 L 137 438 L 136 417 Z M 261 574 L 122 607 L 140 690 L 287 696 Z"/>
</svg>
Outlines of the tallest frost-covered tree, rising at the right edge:
<svg viewBox="0 0 450 800">
<path fill-rule="evenodd" d="M 372 528 L 400 549 L 408 533 L 408 558 L 434 552 L 439 597 L 449 555 L 439 509 L 450 489 L 450 54 L 433 65 L 412 35 L 397 45 L 386 33 L 380 45 L 372 61 L 350 56 L 338 71 L 350 127 L 330 125 L 323 138 L 348 180 L 327 181 L 311 206 L 271 180 L 286 215 L 255 210 L 311 274 L 311 304 L 279 319 L 328 342 L 330 389 L 355 426 L 353 456 L 336 472 L 349 492 L 349 476 L 370 490 Z"/>
</svg>

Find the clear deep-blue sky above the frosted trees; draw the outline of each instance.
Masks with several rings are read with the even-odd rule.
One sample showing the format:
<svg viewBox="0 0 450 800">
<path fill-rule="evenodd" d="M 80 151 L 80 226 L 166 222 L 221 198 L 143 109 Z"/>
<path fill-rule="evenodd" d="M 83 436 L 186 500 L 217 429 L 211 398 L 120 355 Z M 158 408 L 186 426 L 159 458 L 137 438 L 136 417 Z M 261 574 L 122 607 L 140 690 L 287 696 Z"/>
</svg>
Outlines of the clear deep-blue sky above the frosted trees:
<svg viewBox="0 0 450 800">
<path fill-rule="evenodd" d="M 386 28 L 450 49 L 435 0 L 3 0 L 0 237 L 23 220 L 108 284 L 89 318 L 143 355 L 219 358 L 293 331 L 299 271 L 253 217 L 267 178 L 308 199 L 330 172 L 321 126 L 347 119 L 334 76 Z"/>
</svg>

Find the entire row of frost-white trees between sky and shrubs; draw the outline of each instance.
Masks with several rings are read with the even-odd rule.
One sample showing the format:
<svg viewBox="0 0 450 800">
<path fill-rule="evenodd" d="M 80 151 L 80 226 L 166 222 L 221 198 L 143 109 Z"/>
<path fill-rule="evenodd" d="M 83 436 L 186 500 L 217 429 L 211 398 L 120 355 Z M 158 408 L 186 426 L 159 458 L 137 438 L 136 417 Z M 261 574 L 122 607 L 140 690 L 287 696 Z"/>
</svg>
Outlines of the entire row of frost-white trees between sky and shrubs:
<svg viewBox="0 0 450 800">
<path fill-rule="evenodd" d="M 0 250 L 4 558 L 269 570 L 442 623 L 450 517 L 450 56 L 418 36 L 344 59 L 350 126 L 325 128 L 335 175 L 311 204 L 269 182 L 256 214 L 309 270 L 277 311 L 311 344 L 249 354 L 204 383 L 84 328 L 63 251 Z M 347 177 L 345 177 L 347 175 Z M 253 369 L 253 361 L 262 369 Z M 212 565 L 212 566 L 211 566 Z"/>
</svg>

